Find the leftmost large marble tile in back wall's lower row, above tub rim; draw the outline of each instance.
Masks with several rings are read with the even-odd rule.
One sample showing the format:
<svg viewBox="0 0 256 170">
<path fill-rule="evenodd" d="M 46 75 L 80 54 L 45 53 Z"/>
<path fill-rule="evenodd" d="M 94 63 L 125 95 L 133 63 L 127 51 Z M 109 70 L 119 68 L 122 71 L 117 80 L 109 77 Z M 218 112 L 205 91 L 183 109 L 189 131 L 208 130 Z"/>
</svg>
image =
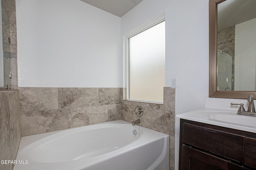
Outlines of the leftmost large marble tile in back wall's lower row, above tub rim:
<svg viewBox="0 0 256 170">
<path fill-rule="evenodd" d="M 70 109 L 21 112 L 22 136 L 34 135 L 71 127 Z"/>
</svg>

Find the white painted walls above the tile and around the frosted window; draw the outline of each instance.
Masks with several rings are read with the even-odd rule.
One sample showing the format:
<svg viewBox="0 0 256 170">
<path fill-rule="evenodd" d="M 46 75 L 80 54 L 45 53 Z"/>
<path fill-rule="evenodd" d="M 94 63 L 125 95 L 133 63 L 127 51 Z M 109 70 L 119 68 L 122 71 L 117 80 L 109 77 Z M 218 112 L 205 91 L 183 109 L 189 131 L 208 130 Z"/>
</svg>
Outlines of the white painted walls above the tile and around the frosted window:
<svg viewBox="0 0 256 170">
<path fill-rule="evenodd" d="M 125 86 L 120 40 L 164 14 L 165 86 L 177 78 L 176 114 L 204 107 L 208 0 L 143 0 L 121 19 L 80 0 L 16 0 L 16 12 L 20 87 Z"/>
</svg>

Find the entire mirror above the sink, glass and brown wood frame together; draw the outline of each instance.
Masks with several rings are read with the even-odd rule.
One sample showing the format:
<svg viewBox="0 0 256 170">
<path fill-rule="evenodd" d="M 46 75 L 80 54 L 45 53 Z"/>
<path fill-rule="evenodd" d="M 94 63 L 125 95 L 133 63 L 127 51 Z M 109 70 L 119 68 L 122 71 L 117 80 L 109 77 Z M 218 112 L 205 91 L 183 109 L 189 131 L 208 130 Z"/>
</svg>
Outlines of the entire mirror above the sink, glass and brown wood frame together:
<svg viewBox="0 0 256 170">
<path fill-rule="evenodd" d="M 221 10 L 227 2 L 230 2 L 230 5 L 224 6 L 224 10 Z M 240 5 L 237 5 L 237 3 L 240 3 Z M 246 62 L 244 58 L 241 58 L 241 56 L 249 56 L 251 51 L 255 50 L 255 38 L 251 39 L 252 35 L 255 34 L 248 30 L 239 30 L 240 25 L 256 18 L 255 3 L 256 0 L 209 0 L 209 97 L 211 98 L 247 99 L 250 95 L 256 96 L 255 88 L 242 87 L 255 84 L 255 82 L 249 82 L 253 80 L 249 75 L 256 72 L 256 63 L 254 62 L 256 56 L 254 55 L 248 62 L 254 66 L 249 66 L 247 63 L 244 67 L 243 64 Z M 250 5 L 248 6 L 248 4 Z M 234 6 L 236 8 L 233 8 Z M 254 16 L 251 16 L 251 14 L 254 14 Z M 246 20 L 244 20 L 244 16 L 247 17 Z M 248 28 L 248 26 L 246 27 Z M 253 30 L 255 30 L 255 27 Z M 247 35 L 248 33 L 250 36 Z M 254 48 L 251 48 L 248 44 L 254 45 Z M 240 51 L 240 49 L 248 47 L 251 51 Z M 217 55 L 223 58 L 217 61 Z M 246 74 L 242 74 L 242 71 L 246 71 Z"/>
</svg>

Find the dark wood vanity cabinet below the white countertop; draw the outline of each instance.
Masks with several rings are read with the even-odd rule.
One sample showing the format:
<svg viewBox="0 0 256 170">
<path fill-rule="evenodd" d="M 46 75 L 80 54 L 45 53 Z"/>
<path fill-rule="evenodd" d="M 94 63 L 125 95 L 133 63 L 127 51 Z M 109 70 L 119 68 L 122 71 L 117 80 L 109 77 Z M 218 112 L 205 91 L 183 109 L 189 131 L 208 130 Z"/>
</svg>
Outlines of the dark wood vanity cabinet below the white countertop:
<svg viewBox="0 0 256 170">
<path fill-rule="evenodd" d="M 256 134 L 180 119 L 179 170 L 256 170 Z"/>
</svg>

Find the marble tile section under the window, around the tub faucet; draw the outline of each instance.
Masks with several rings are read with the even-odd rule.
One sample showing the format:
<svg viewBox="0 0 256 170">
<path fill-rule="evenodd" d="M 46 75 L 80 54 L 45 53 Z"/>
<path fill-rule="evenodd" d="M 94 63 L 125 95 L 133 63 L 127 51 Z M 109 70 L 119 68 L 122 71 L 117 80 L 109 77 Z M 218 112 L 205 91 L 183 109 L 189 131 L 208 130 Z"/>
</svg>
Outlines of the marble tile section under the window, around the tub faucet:
<svg viewBox="0 0 256 170">
<path fill-rule="evenodd" d="M 137 105 L 143 108 L 141 117 L 135 115 Z M 121 119 L 128 122 L 140 119 L 140 126 L 170 135 L 170 170 L 174 170 L 175 88 L 164 88 L 163 105 L 123 100 Z"/>
</svg>

